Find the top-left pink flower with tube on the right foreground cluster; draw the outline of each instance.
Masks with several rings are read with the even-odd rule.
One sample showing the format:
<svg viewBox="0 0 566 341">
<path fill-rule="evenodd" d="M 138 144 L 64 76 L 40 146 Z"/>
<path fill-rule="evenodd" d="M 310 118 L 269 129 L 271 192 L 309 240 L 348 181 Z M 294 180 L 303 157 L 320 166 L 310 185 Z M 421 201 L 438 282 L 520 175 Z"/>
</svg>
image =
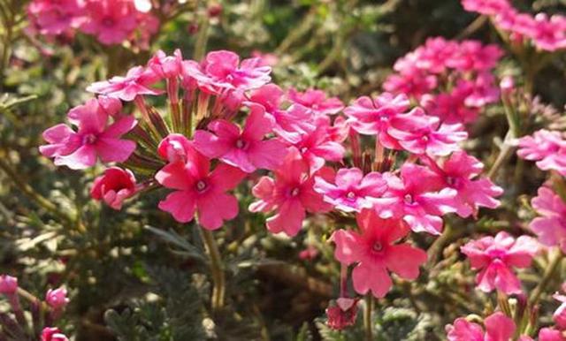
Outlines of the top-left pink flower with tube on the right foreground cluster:
<svg viewBox="0 0 566 341">
<path fill-rule="evenodd" d="M 373 101 L 363 96 L 344 109 L 348 122 L 357 133 L 378 135 L 379 142 L 386 148 L 399 149 L 397 140 L 389 133 L 391 119 L 409 109 L 406 95 L 383 93 Z"/>
</svg>

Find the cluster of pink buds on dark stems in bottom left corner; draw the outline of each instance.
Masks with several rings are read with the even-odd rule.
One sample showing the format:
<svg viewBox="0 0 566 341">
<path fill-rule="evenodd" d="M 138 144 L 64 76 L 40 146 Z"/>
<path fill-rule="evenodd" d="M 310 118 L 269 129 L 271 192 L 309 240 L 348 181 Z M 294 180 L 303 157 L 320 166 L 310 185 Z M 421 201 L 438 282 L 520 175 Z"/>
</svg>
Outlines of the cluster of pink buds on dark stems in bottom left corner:
<svg viewBox="0 0 566 341">
<path fill-rule="evenodd" d="M 0 294 L 8 300 L 11 313 L 0 314 L 0 337 L 3 339 L 34 339 L 41 341 L 68 341 L 68 338 L 52 326 L 61 317 L 69 303 L 65 288 L 50 289 L 45 299 L 36 298 L 20 288 L 18 278 L 9 275 L 0 276 Z M 29 300 L 29 312 L 32 316 L 30 328 L 19 297 Z"/>
</svg>

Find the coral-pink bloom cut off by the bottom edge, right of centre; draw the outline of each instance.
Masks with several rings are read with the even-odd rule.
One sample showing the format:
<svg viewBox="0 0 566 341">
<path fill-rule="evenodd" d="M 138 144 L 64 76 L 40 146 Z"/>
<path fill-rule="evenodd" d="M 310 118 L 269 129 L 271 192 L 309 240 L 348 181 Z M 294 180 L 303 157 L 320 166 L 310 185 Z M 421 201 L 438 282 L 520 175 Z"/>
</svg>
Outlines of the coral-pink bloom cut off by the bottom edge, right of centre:
<svg viewBox="0 0 566 341">
<path fill-rule="evenodd" d="M 513 319 L 501 312 L 493 313 L 484 320 L 486 332 L 478 323 L 460 317 L 446 326 L 448 341 L 510 341 L 515 334 Z"/>
</svg>

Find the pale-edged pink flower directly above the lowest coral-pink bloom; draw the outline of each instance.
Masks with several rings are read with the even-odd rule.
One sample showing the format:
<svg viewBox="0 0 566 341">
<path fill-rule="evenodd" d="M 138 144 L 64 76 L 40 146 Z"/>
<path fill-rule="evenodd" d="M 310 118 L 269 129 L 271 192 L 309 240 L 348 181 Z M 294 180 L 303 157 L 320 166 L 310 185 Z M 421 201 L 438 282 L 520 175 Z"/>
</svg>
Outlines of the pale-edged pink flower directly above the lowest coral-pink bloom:
<svg viewBox="0 0 566 341">
<path fill-rule="evenodd" d="M 315 191 L 324 195 L 325 201 L 345 212 L 359 212 L 371 208 L 370 198 L 378 198 L 386 191 L 381 173 L 371 171 L 363 176 L 357 168 L 341 168 L 336 174 L 336 184 L 324 178 L 315 178 Z"/>
</svg>

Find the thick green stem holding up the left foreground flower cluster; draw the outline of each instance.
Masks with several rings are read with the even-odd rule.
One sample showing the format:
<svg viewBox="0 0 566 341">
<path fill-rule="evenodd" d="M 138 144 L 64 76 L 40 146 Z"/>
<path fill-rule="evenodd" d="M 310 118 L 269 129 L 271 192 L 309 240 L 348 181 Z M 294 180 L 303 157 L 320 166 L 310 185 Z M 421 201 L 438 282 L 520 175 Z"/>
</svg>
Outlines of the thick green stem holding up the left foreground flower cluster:
<svg viewBox="0 0 566 341">
<path fill-rule="evenodd" d="M 206 246 L 206 251 L 210 257 L 210 274 L 212 276 L 212 297 L 210 299 L 210 305 L 212 307 L 212 313 L 218 314 L 218 312 L 224 307 L 224 298 L 226 292 L 226 276 L 224 273 L 224 264 L 222 263 L 222 257 L 220 251 L 218 250 L 218 244 L 214 239 L 212 231 L 199 228 L 201 232 L 201 238 Z"/>
</svg>

